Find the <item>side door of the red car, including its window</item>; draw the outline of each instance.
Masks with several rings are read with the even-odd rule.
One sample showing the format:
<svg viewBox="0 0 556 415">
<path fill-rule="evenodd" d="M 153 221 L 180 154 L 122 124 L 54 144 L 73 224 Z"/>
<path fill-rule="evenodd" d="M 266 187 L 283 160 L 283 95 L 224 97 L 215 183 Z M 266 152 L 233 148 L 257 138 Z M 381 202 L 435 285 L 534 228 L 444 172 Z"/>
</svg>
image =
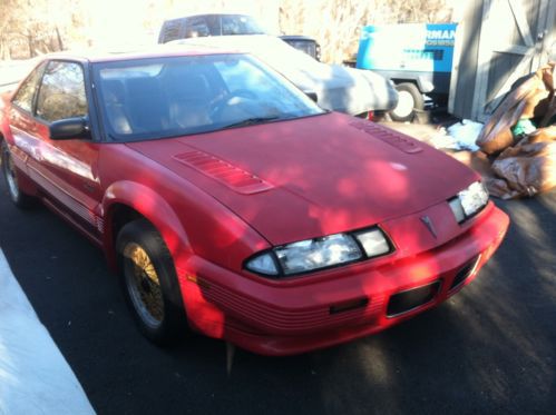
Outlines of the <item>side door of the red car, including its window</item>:
<svg viewBox="0 0 556 415">
<path fill-rule="evenodd" d="M 88 118 L 84 67 L 80 62 L 51 60 L 39 83 L 32 137 L 27 162 L 29 176 L 47 195 L 47 202 L 87 233 L 97 234 L 101 221 L 95 214 L 101 199 L 98 178 L 99 144 L 92 139 L 51 140 L 52 122 Z"/>
</svg>

